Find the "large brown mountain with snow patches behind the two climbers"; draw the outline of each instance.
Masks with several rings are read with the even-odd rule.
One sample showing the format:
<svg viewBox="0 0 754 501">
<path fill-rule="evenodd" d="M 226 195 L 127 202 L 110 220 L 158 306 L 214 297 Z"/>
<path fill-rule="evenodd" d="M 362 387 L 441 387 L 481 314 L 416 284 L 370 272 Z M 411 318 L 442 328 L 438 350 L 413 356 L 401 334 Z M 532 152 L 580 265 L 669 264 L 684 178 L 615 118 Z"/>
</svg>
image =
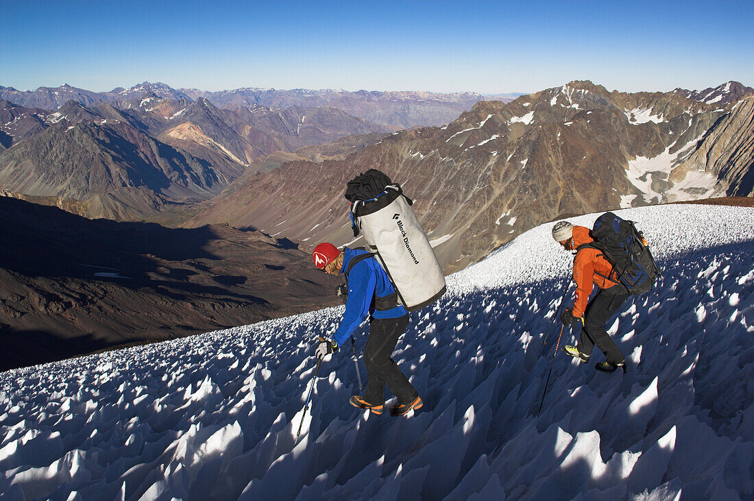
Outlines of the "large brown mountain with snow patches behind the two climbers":
<svg viewBox="0 0 754 501">
<path fill-rule="evenodd" d="M 223 221 L 307 246 L 350 243 L 345 185 L 376 168 L 415 200 L 452 271 L 558 215 L 751 196 L 752 137 L 754 97 L 707 105 L 572 82 L 479 102 L 446 127 L 404 130 L 345 160 L 284 163 L 244 179 L 190 224 Z"/>
</svg>

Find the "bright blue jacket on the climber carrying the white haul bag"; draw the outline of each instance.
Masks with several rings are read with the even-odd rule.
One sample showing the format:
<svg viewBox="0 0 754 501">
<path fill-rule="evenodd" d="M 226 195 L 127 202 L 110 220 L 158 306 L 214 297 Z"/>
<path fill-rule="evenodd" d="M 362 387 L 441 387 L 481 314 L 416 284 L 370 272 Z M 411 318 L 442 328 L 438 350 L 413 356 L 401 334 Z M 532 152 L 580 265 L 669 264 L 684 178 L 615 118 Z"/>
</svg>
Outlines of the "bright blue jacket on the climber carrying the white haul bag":
<svg viewBox="0 0 754 501">
<path fill-rule="evenodd" d="M 343 249 L 343 266 L 340 273 L 348 270 L 348 263 L 357 255 L 366 254 L 365 250 L 354 250 L 346 247 Z M 345 313 L 340 326 L 333 338 L 342 345 L 354 330 L 363 322 L 370 313 L 375 319 L 397 319 L 408 313 L 406 308 L 398 305 L 391 310 L 375 310 L 372 306 L 373 299 L 384 298 L 395 292 L 393 283 L 388 278 L 388 273 L 374 258 L 359 261 L 348 273 L 348 299 L 345 302 Z"/>
</svg>

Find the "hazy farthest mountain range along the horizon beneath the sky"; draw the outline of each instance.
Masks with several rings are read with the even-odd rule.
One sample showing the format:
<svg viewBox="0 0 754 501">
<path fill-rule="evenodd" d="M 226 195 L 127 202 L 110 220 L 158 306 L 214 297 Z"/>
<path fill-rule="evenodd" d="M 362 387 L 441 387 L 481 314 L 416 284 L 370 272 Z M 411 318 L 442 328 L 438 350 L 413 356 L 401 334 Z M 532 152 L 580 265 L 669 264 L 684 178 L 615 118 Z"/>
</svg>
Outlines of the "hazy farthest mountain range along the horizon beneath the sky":
<svg viewBox="0 0 754 501">
<path fill-rule="evenodd" d="M 392 130 L 417 126 L 442 125 L 458 118 L 483 98 L 477 93 L 381 92 L 359 90 L 276 90 L 241 88 L 209 92 L 198 89 L 173 89 L 166 84 L 143 82 L 109 92 L 92 92 L 64 84 L 57 88 L 16 90 L 0 87 L 0 98 L 27 108 L 57 109 L 69 100 L 88 106 L 97 101 L 112 104 L 142 99 L 146 94 L 172 101 L 207 99 L 219 108 L 338 108 L 354 117 L 363 118 Z M 495 99 L 510 101 L 520 94 L 504 94 Z"/>
</svg>

